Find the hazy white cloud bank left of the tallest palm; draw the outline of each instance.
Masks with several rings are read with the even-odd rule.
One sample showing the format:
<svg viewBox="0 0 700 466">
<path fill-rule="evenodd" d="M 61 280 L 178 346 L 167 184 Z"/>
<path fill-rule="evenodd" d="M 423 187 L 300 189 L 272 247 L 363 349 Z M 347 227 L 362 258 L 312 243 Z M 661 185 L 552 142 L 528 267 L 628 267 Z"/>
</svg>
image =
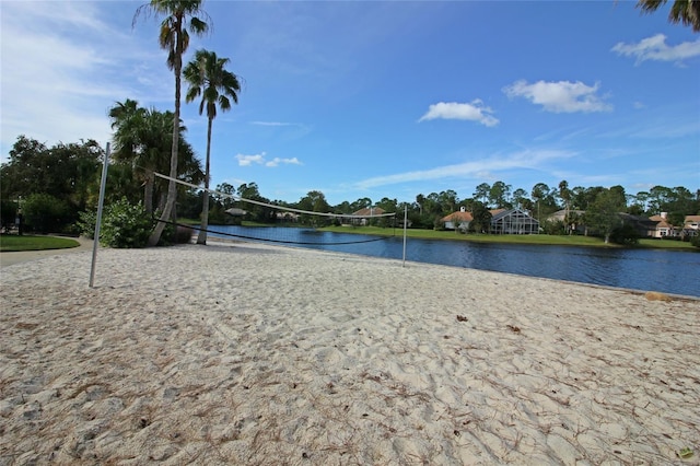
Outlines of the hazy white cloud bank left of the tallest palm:
<svg viewBox="0 0 700 466">
<path fill-rule="evenodd" d="M 162 79 L 171 75 L 164 54 L 131 32 L 131 15 L 108 2 L 2 2 L 3 155 L 20 135 L 48 145 L 106 142 L 107 112 L 115 102 L 130 97 L 148 106 L 159 96 L 172 102 L 172 86 Z M 144 75 L 151 86 L 139 84 Z"/>
</svg>

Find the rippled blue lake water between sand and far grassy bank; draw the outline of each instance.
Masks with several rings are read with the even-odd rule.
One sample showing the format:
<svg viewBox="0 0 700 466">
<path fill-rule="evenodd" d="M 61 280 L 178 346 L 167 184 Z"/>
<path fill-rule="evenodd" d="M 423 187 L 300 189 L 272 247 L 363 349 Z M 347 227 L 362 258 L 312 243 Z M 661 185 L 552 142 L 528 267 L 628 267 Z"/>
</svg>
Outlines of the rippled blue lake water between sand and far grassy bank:
<svg viewBox="0 0 700 466">
<path fill-rule="evenodd" d="M 376 236 L 306 229 L 212 226 L 212 230 L 288 245 L 401 259 L 402 237 L 369 243 Z M 397 232 L 400 234 L 400 232 Z M 214 233 L 212 237 L 218 236 Z M 299 244 L 299 243 L 318 244 Z M 348 242 L 352 244 L 337 244 Z M 336 243 L 336 244 L 325 244 Z M 283 243 L 282 243 L 283 244 Z M 408 238 L 406 259 L 700 298 L 700 253 L 667 249 L 564 247 Z"/>
</svg>

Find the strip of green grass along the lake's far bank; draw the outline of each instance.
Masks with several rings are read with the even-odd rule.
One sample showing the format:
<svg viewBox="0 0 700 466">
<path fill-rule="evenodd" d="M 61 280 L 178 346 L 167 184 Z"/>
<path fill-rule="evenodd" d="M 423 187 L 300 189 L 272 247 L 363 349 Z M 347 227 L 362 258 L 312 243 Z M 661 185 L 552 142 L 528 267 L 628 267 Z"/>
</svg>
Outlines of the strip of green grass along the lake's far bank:
<svg viewBox="0 0 700 466">
<path fill-rule="evenodd" d="M 380 226 L 328 226 L 322 231 L 336 233 L 358 233 L 384 236 L 402 236 L 404 230 L 380 228 Z M 548 234 L 462 234 L 454 231 L 436 230 L 407 230 L 406 236 L 422 240 L 446 240 L 446 241 L 468 241 L 475 243 L 500 243 L 500 244 L 540 244 L 558 246 L 588 246 L 588 247 L 623 247 L 617 244 L 605 244 L 603 238 L 580 235 L 548 235 Z M 640 240 L 637 247 L 668 248 L 679 251 L 700 251 L 690 243 L 680 241 Z"/>
</svg>

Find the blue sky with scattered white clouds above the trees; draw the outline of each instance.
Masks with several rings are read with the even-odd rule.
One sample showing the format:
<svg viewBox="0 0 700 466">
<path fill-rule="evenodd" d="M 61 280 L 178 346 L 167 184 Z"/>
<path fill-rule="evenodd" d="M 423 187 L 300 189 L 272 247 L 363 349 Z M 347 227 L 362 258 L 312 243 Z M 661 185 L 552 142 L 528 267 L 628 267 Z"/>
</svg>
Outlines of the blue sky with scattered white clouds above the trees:
<svg viewBox="0 0 700 466">
<path fill-rule="evenodd" d="M 110 138 L 108 108 L 173 109 L 142 1 L 0 1 L 2 160 L 19 135 Z M 700 34 L 628 1 L 205 1 L 198 48 L 231 59 L 212 186 L 331 205 L 502 180 L 700 188 Z M 206 154 L 207 121 L 183 106 Z"/>
</svg>

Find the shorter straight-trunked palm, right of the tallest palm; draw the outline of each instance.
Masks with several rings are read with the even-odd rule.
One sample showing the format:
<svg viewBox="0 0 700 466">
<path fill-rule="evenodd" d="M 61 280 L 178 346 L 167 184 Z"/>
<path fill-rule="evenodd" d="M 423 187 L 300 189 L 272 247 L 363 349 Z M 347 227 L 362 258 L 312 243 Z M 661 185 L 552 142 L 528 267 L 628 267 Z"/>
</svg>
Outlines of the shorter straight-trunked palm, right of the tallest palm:
<svg viewBox="0 0 700 466">
<path fill-rule="evenodd" d="M 184 70 L 185 80 L 189 83 L 185 102 L 192 102 L 201 95 L 199 115 L 207 108 L 207 159 L 205 163 L 205 196 L 201 210 L 201 229 L 197 244 L 207 244 L 209 226 L 209 161 L 211 153 L 211 124 L 217 117 L 217 105 L 222 112 L 231 109 L 231 101 L 238 103 L 241 83 L 238 77 L 224 68 L 228 58 L 219 58 L 214 51 L 197 50 L 195 59 Z M 231 97 L 231 98 L 229 98 Z"/>
</svg>

